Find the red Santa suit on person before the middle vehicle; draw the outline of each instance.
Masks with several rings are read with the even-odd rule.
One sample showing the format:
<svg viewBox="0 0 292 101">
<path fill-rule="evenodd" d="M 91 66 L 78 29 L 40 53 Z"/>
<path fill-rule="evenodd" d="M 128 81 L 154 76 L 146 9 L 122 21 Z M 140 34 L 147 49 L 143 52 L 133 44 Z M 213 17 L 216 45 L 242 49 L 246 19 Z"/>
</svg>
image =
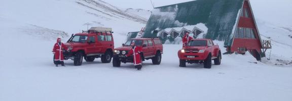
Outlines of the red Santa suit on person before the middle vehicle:
<svg viewBox="0 0 292 101">
<path fill-rule="evenodd" d="M 142 48 L 140 46 L 134 46 L 134 48 L 130 50 L 130 52 L 126 55 L 126 57 L 133 55 L 134 66 L 141 65 L 141 57 L 140 57 L 141 52 L 142 52 Z"/>
</svg>

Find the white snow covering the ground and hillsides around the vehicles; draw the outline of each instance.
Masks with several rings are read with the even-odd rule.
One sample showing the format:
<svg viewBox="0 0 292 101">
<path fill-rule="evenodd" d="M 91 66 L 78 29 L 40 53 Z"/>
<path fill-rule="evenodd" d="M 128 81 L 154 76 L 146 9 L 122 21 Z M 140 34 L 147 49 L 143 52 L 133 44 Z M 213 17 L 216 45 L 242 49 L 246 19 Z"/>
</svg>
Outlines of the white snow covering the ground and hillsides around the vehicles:
<svg viewBox="0 0 292 101">
<path fill-rule="evenodd" d="M 224 55 L 222 65 L 212 65 L 212 69 L 200 64 L 180 68 L 178 44 L 164 45 L 161 65 L 148 60 L 142 71 L 130 63 L 114 68 L 100 59 L 78 67 L 68 60 L 66 67 L 54 67 L 55 38 L 65 41 L 70 34 L 86 30 L 84 23 L 112 27 L 115 47 L 121 46 L 127 32 L 145 26 L 117 17 L 84 8 L 74 0 L 1 3 L 0 100 L 292 100 L 292 66 L 275 65 L 280 63 L 277 60 L 292 62 L 292 38 L 288 37 L 292 32 L 287 30 L 291 27 L 260 20 L 262 38 L 272 40 L 271 61 L 233 54 Z M 223 46 L 223 42 L 215 43 Z"/>
</svg>

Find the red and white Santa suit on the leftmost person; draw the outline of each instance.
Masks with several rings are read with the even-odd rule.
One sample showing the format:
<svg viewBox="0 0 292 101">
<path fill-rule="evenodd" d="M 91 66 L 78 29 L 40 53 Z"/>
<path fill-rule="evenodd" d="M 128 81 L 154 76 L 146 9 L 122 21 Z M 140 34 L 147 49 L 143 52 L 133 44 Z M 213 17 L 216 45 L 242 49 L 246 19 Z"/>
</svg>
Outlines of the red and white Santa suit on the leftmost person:
<svg viewBox="0 0 292 101">
<path fill-rule="evenodd" d="M 57 43 L 55 43 L 54 48 L 53 48 L 53 53 L 55 54 L 55 61 L 64 61 L 63 57 L 63 49 L 68 51 L 67 46 L 65 46 L 62 42 L 59 44 L 58 40 L 61 38 L 57 39 Z"/>
</svg>

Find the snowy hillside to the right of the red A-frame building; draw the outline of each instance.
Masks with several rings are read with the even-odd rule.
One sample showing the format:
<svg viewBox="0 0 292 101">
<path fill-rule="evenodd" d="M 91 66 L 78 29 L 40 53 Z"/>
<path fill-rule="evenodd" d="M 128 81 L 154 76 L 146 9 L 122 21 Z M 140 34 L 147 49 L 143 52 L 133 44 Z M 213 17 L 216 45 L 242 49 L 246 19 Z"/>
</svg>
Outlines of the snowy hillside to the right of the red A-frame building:
<svg viewBox="0 0 292 101">
<path fill-rule="evenodd" d="M 261 38 L 263 40 L 271 40 L 272 44 L 272 49 L 267 50 L 267 57 L 264 58 L 263 62 L 271 65 L 291 66 L 292 54 L 290 52 L 292 52 L 292 38 L 290 38 L 289 35 L 292 34 L 292 32 L 289 31 L 290 27 L 264 22 L 260 19 L 257 19 L 257 24 Z"/>
</svg>

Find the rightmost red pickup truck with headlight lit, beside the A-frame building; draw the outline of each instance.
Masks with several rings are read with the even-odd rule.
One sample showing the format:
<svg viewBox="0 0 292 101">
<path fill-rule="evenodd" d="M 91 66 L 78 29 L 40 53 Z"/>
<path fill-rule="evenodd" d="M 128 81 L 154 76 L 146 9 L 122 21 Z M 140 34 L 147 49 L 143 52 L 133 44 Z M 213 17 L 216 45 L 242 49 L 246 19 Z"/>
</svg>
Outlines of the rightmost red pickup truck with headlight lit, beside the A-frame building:
<svg viewBox="0 0 292 101">
<path fill-rule="evenodd" d="M 193 39 L 177 52 L 179 67 L 186 67 L 186 63 L 204 63 L 204 68 L 211 68 L 212 60 L 215 65 L 221 64 L 221 50 L 210 39 Z"/>
</svg>

